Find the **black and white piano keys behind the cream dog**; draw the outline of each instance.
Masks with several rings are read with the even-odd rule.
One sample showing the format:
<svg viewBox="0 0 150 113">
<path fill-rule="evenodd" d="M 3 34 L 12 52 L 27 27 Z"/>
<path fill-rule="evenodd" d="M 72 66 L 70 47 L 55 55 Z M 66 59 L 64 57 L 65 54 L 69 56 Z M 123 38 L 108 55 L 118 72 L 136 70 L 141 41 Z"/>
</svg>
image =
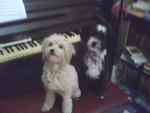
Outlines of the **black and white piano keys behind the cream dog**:
<svg viewBox="0 0 150 113">
<path fill-rule="evenodd" d="M 64 33 L 63 35 L 70 43 L 81 41 L 80 35 L 74 32 Z M 41 39 L 27 39 L 19 43 L 11 42 L 11 44 L 0 45 L 0 63 L 38 54 L 41 52 L 41 44 Z"/>
</svg>

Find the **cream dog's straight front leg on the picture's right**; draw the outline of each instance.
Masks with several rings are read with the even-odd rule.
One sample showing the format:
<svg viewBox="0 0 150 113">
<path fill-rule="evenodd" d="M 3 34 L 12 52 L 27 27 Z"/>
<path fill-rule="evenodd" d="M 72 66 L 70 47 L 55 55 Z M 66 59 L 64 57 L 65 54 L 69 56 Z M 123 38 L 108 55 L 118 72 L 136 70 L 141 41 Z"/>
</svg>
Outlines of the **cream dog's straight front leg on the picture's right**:
<svg viewBox="0 0 150 113">
<path fill-rule="evenodd" d="M 63 96 L 62 112 L 63 113 L 72 113 L 71 96 Z"/>
</svg>

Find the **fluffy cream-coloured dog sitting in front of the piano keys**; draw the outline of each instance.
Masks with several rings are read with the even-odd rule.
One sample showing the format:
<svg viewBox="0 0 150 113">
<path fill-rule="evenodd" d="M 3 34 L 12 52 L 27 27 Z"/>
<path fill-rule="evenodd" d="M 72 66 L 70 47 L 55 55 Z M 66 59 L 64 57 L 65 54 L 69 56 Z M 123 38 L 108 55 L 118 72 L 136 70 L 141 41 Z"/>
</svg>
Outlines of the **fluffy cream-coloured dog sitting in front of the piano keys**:
<svg viewBox="0 0 150 113">
<path fill-rule="evenodd" d="M 43 41 L 44 68 L 42 82 L 46 90 L 42 111 L 49 111 L 55 102 L 55 94 L 62 96 L 62 112 L 72 112 L 72 98 L 81 95 L 77 72 L 70 64 L 75 50 L 61 34 L 53 34 Z"/>
</svg>

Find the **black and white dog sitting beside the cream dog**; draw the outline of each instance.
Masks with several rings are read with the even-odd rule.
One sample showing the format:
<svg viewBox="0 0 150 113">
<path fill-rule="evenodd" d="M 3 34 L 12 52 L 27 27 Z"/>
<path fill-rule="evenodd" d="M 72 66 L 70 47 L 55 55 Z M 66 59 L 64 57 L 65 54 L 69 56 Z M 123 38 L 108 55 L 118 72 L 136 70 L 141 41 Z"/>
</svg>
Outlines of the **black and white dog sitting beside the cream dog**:
<svg viewBox="0 0 150 113">
<path fill-rule="evenodd" d="M 107 29 L 103 25 L 97 25 L 96 29 L 97 33 L 91 35 L 87 41 L 88 51 L 84 55 L 85 76 L 82 92 L 85 93 L 87 89 L 91 89 L 103 100 L 107 83 Z"/>
</svg>

